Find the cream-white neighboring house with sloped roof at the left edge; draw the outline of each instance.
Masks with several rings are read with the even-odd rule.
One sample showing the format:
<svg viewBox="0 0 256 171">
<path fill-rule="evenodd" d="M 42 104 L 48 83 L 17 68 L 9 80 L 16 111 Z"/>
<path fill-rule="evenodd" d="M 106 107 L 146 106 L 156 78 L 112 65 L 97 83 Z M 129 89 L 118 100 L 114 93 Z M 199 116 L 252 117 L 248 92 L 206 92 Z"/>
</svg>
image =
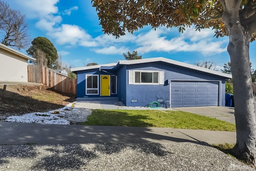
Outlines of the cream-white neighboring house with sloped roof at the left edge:
<svg viewBox="0 0 256 171">
<path fill-rule="evenodd" d="M 28 82 L 28 60 L 36 60 L 0 44 L 0 81 Z"/>
</svg>

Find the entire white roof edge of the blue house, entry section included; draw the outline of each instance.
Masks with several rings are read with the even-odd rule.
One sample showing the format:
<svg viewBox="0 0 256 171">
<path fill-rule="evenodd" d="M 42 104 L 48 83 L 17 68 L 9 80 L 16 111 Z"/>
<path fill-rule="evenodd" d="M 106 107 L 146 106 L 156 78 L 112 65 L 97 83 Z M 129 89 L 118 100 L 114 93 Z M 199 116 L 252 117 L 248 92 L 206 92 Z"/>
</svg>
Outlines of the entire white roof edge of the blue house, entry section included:
<svg viewBox="0 0 256 171">
<path fill-rule="evenodd" d="M 80 71 L 80 70 L 89 70 L 89 69 L 101 68 L 101 66 L 116 66 L 116 67 L 118 67 L 119 65 L 143 64 L 143 63 L 148 63 L 148 62 L 165 62 L 165 63 L 168 63 L 168 64 L 173 64 L 173 65 L 176 65 L 176 66 L 181 66 L 181 67 L 189 68 L 189 69 L 192 69 L 192 70 L 197 70 L 197 71 L 206 72 L 206 73 L 209 73 L 209 74 L 214 74 L 216 76 L 222 76 L 222 77 L 225 77 L 225 78 L 232 78 L 232 75 L 230 75 L 230 74 L 225 74 L 225 73 L 222 73 L 222 72 L 209 70 L 209 69 L 202 68 L 202 67 L 199 67 L 199 66 L 186 64 L 184 62 L 178 62 L 178 61 L 170 60 L 170 59 L 163 58 L 163 57 L 147 58 L 147 59 L 140 59 L 140 60 L 120 60 L 118 63 L 112 63 L 112 64 L 87 66 L 87 67 L 80 67 L 80 68 L 71 68 L 71 71 L 73 72 L 73 71 Z"/>
</svg>

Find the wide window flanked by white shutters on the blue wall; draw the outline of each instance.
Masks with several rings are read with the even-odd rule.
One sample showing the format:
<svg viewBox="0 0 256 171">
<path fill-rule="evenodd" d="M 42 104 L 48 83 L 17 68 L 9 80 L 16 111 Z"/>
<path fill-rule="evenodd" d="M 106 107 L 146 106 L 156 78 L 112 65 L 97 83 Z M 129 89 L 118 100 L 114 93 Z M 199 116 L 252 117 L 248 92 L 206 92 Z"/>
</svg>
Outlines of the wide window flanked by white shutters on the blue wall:
<svg viewBox="0 0 256 171">
<path fill-rule="evenodd" d="M 164 84 L 164 71 L 129 70 L 128 84 Z"/>
</svg>

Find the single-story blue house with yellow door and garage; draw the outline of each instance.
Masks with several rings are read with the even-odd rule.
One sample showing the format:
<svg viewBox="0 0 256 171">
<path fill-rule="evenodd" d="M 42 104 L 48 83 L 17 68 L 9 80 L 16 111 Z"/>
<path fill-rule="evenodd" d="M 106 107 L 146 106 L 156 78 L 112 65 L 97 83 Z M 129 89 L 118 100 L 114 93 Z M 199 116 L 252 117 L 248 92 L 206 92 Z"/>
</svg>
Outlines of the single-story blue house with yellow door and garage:
<svg viewBox="0 0 256 171">
<path fill-rule="evenodd" d="M 116 97 L 126 106 L 165 101 L 167 107 L 225 106 L 224 74 L 167 58 L 120 60 L 113 64 L 71 68 L 77 97 Z M 109 99 L 109 98 L 106 98 Z"/>
</svg>

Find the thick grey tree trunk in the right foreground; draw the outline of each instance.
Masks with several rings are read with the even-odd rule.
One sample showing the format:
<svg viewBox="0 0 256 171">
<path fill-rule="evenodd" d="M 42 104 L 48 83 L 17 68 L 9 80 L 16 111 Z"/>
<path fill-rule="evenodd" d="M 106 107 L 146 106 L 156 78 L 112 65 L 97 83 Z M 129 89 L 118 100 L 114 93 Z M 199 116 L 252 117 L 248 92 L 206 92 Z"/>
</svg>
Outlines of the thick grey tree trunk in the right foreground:
<svg viewBox="0 0 256 171">
<path fill-rule="evenodd" d="M 228 53 L 230 55 L 236 119 L 236 145 L 232 153 L 253 165 L 256 164 L 256 113 L 253 93 L 249 43 L 251 35 L 239 20 L 229 20 Z"/>
</svg>

